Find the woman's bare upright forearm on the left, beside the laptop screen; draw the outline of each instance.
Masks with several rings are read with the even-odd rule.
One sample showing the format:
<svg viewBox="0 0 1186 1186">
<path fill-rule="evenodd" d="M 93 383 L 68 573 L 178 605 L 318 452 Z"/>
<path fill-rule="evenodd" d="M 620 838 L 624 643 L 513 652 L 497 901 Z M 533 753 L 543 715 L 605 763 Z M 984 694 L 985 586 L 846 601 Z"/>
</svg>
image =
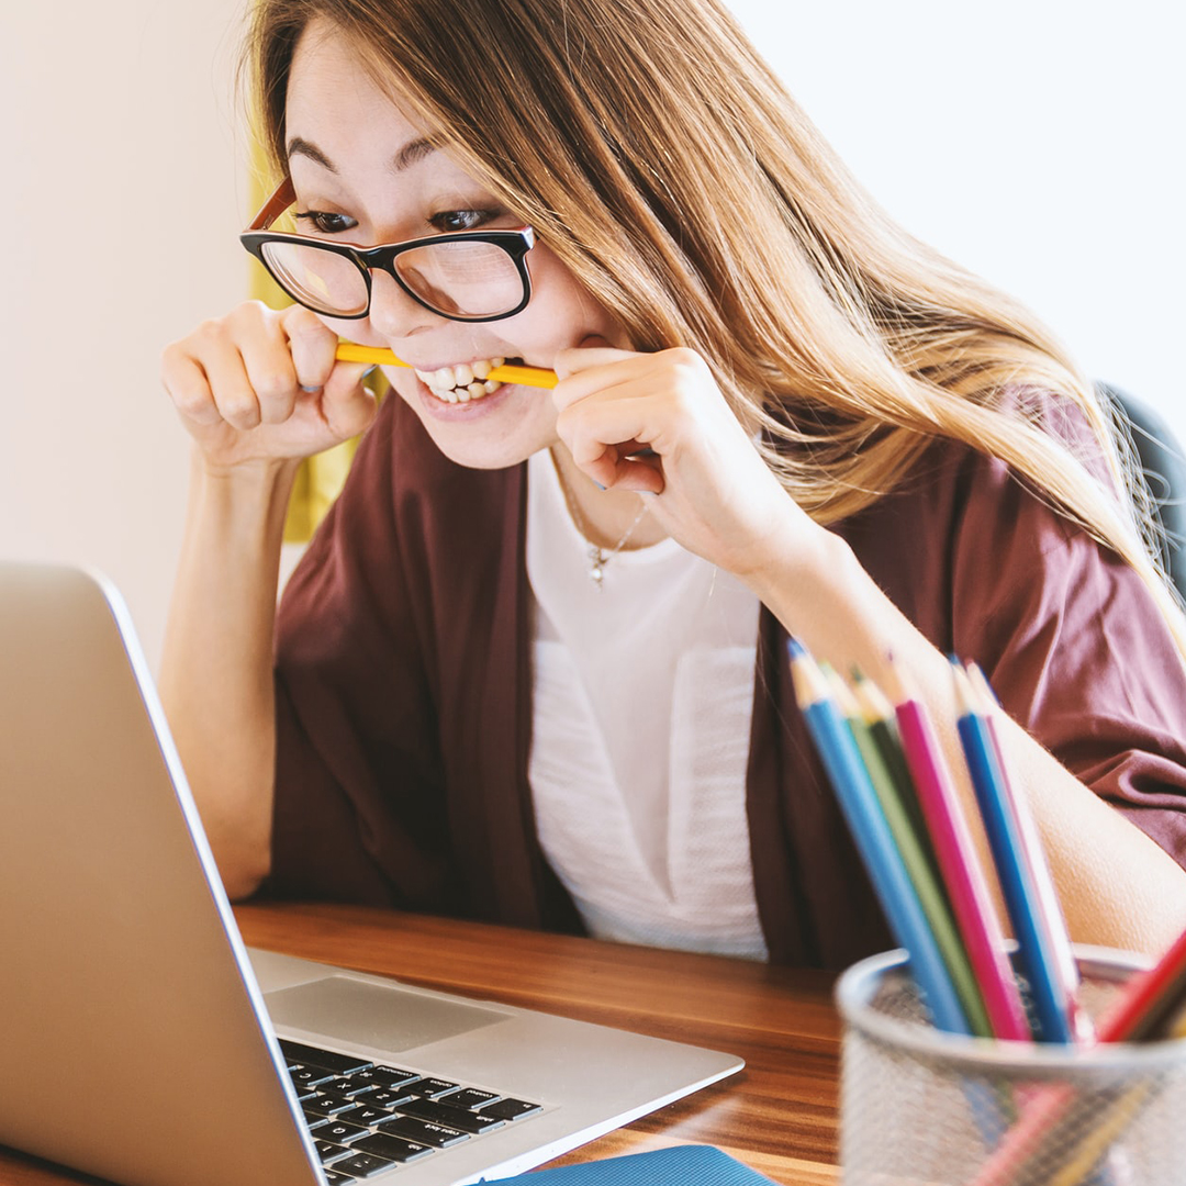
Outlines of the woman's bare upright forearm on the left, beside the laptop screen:
<svg viewBox="0 0 1186 1186">
<path fill-rule="evenodd" d="M 232 898 L 268 872 L 275 773 L 272 638 L 295 464 L 211 473 L 195 458 L 160 693 Z"/>
</svg>

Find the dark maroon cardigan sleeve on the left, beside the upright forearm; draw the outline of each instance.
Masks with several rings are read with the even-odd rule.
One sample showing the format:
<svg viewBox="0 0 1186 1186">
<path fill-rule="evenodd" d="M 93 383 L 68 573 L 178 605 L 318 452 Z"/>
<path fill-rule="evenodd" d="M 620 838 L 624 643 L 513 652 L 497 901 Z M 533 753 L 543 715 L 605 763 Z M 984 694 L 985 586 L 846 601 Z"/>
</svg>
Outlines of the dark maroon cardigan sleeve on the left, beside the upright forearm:
<svg viewBox="0 0 1186 1186">
<path fill-rule="evenodd" d="M 362 442 L 279 610 L 266 888 L 448 911 L 457 880 L 435 696 L 394 512 L 394 402 Z"/>
</svg>

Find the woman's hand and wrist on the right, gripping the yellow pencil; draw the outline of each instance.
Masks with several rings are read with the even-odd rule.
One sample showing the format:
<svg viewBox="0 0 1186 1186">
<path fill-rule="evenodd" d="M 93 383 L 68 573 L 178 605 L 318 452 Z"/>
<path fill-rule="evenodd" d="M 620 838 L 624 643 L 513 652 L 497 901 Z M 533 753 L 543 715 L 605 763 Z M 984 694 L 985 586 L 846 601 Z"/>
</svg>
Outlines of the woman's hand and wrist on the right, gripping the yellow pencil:
<svg viewBox="0 0 1186 1186">
<path fill-rule="evenodd" d="M 823 531 L 770 472 L 695 351 L 635 353 L 595 338 L 555 366 L 557 432 L 576 466 L 601 486 L 649 492 L 655 518 L 690 551 L 760 584 Z"/>
</svg>

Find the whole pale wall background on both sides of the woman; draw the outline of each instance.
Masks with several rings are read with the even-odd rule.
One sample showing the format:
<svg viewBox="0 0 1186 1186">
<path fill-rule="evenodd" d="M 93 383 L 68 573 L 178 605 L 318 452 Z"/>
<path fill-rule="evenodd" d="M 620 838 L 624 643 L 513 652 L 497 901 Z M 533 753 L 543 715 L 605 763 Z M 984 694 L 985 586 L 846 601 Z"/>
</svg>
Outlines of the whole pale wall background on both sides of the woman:
<svg viewBox="0 0 1186 1186">
<path fill-rule="evenodd" d="M 1186 436 L 1180 5 L 733 7 L 891 212 Z M 0 33 L 0 557 L 106 569 L 154 662 L 187 457 L 158 358 L 246 276 L 240 8 L 8 2 Z"/>
</svg>

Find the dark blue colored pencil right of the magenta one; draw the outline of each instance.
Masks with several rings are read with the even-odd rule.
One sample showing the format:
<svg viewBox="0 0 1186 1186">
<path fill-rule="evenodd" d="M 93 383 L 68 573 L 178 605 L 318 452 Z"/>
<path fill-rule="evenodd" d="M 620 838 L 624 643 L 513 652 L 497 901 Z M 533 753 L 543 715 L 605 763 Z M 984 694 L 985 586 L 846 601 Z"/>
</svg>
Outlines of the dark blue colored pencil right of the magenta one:
<svg viewBox="0 0 1186 1186">
<path fill-rule="evenodd" d="M 984 718 L 976 712 L 968 674 L 951 661 L 959 703 L 959 742 L 971 776 L 984 833 L 996 863 L 1005 907 L 1018 940 L 1018 958 L 1029 984 L 1039 1041 L 1073 1042 L 1073 1000 L 1061 976 L 1058 951 L 1044 924 L 1042 906 L 1025 861 L 1025 842 L 1009 806 L 1005 776 L 997 764 Z"/>
</svg>

